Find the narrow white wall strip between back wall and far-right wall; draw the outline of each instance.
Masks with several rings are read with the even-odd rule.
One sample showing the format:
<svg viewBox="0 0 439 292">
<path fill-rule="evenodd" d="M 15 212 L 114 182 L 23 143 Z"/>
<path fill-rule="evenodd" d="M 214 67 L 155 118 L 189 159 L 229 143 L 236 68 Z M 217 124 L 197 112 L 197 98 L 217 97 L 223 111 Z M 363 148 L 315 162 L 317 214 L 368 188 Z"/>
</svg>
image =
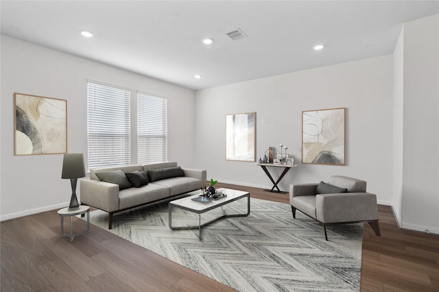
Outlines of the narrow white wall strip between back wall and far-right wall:
<svg viewBox="0 0 439 292">
<path fill-rule="evenodd" d="M 401 226 L 403 208 L 404 29 L 393 53 L 393 212 Z"/>
</svg>

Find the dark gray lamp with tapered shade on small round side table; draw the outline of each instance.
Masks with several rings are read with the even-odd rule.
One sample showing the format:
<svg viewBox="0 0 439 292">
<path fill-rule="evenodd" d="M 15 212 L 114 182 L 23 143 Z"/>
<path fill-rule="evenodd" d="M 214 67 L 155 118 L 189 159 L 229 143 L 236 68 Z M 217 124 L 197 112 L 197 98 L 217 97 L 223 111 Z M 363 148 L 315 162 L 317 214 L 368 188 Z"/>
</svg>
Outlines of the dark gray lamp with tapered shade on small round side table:
<svg viewBox="0 0 439 292">
<path fill-rule="evenodd" d="M 76 183 L 78 178 L 84 178 L 84 156 L 82 153 L 64 154 L 64 160 L 62 160 L 62 175 L 61 178 L 69 178 L 71 184 L 71 199 L 69 204 L 69 210 L 75 210 L 80 208 L 78 199 L 76 198 Z"/>
</svg>

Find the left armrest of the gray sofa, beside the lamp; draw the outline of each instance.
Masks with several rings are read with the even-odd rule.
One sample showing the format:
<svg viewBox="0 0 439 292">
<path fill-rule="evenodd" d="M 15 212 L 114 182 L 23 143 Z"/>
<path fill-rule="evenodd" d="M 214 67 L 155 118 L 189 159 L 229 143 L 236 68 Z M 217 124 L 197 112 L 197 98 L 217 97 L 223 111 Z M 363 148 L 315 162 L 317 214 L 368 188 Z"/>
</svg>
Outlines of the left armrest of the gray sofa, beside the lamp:
<svg viewBox="0 0 439 292">
<path fill-rule="evenodd" d="M 119 210 L 119 186 L 100 180 L 81 180 L 80 201 L 106 212 Z"/>
</svg>

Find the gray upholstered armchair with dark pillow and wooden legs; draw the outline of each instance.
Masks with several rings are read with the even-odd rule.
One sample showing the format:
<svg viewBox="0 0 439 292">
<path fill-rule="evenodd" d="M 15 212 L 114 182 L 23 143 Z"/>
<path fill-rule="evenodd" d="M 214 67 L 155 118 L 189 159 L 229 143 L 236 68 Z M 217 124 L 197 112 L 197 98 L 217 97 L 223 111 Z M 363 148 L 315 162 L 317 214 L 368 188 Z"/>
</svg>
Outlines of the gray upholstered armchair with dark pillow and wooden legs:
<svg viewBox="0 0 439 292">
<path fill-rule="evenodd" d="M 327 224 L 368 222 L 377 236 L 377 195 L 366 193 L 366 182 L 346 176 L 333 175 L 326 183 L 289 186 L 289 203 L 293 217 L 296 210 L 323 224 L 328 240 Z"/>
</svg>

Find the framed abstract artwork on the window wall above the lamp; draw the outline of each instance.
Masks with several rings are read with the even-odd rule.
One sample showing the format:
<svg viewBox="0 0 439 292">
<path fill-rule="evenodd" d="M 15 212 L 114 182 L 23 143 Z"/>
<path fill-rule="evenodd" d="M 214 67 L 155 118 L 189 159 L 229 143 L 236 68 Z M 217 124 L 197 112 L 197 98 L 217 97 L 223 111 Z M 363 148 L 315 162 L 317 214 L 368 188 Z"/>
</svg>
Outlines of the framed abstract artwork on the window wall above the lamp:
<svg viewBox="0 0 439 292">
<path fill-rule="evenodd" d="M 67 100 L 14 93 L 14 155 L 67 153 Z"/>
</svg>

